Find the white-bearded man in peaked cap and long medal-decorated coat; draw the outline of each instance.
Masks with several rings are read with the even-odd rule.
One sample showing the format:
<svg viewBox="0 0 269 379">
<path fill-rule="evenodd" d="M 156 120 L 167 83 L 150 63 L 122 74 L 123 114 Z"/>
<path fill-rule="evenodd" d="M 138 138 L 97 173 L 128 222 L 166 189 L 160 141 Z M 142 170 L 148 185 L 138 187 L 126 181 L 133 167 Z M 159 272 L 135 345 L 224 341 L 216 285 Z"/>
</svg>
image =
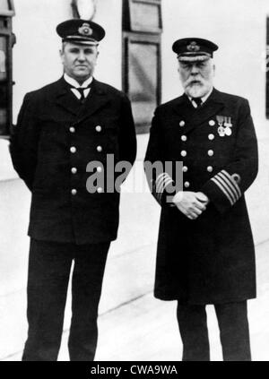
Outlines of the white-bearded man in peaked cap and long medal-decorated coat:
<svg viewBox="0 0 269 379">
<path fill-rule="evenodd" d="M 256 133 L 247 99 L 213 88 L 217 49 L 206 39 L 174 43 L 185 93 L 156 109 L 145 157 L 161 205 L 154 296 L 178 301 L 186 361 L 210 360 L 209 304 L 223 359 L 251 360 L 247 299 L 256 297 L 256 268 L 244 193 L 257 174 Z M 151 175 L 147 165 L 160 161 L 162 172 Z"/>
</svg>

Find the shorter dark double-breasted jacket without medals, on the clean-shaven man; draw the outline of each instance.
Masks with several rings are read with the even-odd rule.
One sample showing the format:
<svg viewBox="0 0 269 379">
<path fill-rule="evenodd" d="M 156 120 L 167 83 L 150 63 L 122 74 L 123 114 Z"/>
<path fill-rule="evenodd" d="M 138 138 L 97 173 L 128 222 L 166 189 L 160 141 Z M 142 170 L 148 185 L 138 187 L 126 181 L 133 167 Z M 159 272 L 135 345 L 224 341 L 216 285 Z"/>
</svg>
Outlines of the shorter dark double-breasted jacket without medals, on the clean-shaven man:
<svg viewBox="0 0 269 379">
<path fill-rule="evenodd" d="M 30 237 L 95 244 L 117 237 L 118 193 L 86 189 L 91 161 L 134 163 L 136 138 L 126 95 L 93 80 L 84 104 L 62 77 L 28 93 L 11 142 L 13 166 L 32 192 Z M 111 173 L 109 174 L 109 176 Z M 107 175 L 105 175 L 105 182 Z"/>
</svg>

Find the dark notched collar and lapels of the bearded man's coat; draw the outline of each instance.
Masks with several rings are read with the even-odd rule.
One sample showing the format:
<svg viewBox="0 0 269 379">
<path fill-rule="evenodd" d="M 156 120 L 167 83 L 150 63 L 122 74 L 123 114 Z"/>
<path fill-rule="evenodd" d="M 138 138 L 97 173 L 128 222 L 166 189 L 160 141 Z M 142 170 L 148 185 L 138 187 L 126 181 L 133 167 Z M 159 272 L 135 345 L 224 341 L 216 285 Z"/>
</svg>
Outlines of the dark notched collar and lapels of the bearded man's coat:
<svg viewBox="0 0 269 379">
<path fill-rule="evenodd" d="M 175 111 L 185 121 L 184 133 L 191 132 L 195 127 L 204 124 L 207 120 L 217 115 L 224 107 L 221 92 L 213 89 L 210 97 L 205 101 L 201 108 L 195 109 L 187 95 L 182 95 L 174 105 Z"/>
</svg>

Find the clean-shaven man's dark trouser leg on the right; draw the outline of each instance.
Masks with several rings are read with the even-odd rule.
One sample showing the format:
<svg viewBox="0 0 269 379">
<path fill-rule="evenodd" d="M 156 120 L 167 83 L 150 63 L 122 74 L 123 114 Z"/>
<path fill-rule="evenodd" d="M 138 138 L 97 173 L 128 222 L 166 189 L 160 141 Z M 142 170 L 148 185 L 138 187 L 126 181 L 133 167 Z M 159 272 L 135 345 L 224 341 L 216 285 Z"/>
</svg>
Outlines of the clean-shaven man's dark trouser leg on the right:
<svg viewBox="0 0 269 379">
<path fill-rule="evenodd" d="M 98 339 L 98 306 L 109 243 L 79 246 L 72 279 L 70 360 L 92 361 Z"/>
</svg>

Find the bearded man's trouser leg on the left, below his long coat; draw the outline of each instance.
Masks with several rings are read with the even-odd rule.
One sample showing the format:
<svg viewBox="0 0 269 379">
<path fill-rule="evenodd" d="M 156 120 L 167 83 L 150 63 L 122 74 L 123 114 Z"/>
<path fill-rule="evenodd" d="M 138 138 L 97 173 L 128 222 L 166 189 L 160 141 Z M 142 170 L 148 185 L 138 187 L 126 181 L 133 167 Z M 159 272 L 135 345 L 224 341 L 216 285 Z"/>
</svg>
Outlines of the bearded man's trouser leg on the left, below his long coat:
<svg viewBox="0 0 269 379">
<path fill-rule="evenodd" d="M 178 304 L 178 327 L 183 343 L 184 361 L 209 361 L 209 339 L 205 306 Z"/>
</svg>

